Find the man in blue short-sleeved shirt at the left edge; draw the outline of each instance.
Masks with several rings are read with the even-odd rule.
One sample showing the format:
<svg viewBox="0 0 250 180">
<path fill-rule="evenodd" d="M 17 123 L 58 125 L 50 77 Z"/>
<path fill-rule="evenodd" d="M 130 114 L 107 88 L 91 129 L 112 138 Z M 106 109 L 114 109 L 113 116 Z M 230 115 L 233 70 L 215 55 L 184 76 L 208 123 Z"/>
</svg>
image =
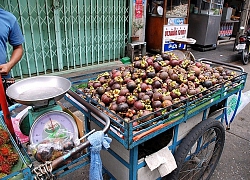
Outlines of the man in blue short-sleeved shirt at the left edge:
<svg viewBox="0 0 250 180">
<path fill-rule="evenodd" d="M 9 60 L 7 59 L 7 42 L 13 47 Z M 8 78 L 11 77 L 11 69 L 22 58 L 23 42 L 24 37 L 16 17 L 0 8 L 0 74 L 5 88 L 8 86 Z"/>
</svg>

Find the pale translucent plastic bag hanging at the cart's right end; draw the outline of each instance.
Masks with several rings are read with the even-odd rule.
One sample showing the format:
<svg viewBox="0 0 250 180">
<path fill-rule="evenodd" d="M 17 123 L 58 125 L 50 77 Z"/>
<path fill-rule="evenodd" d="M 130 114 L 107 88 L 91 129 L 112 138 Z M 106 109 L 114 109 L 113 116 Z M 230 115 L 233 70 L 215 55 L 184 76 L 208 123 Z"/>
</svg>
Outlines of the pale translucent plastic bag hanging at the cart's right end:
<svg viewBox="0 0 250 180">
<path fill-rule="evenodd" d="M 238 101 L 238 97 L 239 97 L 239 93 L 237 94 L 233 94 L 232 96 L 228 97 L 227 99 L 227 120 L 232 122 L 232 118 L 236 105 L 237 105 L 237 101 Z M 237 109 L 237 112 L 235 114 L 235 116 L 242 110 L 244 109 L 244 107 L 250 102 L 250 91 L 246 91 L 244 93 L 241 93 L 241 97 L 240 97 L 240 102 L 239 102 L 239 106 Z"/>
</svg>

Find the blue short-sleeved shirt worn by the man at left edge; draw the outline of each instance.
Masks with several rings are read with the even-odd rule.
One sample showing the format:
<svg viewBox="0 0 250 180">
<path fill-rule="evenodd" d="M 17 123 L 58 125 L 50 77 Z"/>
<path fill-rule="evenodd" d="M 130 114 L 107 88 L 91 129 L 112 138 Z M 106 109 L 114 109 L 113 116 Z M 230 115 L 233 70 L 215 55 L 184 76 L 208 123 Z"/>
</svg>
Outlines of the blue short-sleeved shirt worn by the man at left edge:
<svg viewBox="0 0 250 180">
<path fill-rule="evenodd" d="M 7 42 L 18 46 L 24 42 L 24 37 L 16 17 L 0 8 L 0 64 L 7 61 Z"/>
</svg>

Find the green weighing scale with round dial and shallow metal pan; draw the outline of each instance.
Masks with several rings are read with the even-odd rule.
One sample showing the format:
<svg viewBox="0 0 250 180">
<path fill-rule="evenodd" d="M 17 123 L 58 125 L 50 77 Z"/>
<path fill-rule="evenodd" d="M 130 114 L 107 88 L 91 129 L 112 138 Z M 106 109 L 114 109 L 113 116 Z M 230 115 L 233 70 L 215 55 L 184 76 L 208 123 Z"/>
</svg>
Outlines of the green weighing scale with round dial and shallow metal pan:
<svg viewBox="0 0 250 180">
<path fill-rule="evenodd" d="M 56 103 L 70 89 L 68 79 L 57 76 L 37 76 L 11 85 L 6 94 L 16 102 L 31 108 L 20 119 L 20 130 L 29 136 L 30 143 L 46 138 L 65 138 L 69 134 L 78 139 L 75 119 Z"/>
</svg>

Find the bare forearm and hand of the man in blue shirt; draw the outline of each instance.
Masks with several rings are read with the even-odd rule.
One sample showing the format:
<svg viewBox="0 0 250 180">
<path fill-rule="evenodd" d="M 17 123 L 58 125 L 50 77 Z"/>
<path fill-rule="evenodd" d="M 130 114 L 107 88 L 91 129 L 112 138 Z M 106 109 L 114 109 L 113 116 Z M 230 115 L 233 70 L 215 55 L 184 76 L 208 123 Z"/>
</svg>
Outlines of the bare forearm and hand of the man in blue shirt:
<svg viewBox="0 0 250 180">
<path fill-rule="evenodd" d="M 7 75 L 10 72 L 10 70 L 18 63 L 18 61 L 20 61 L 22 55 L 23 55 L 22 44 L 14 46 L 9 62 L 0 65 L 0 73 L 2 75 Z"/>
</svg>

